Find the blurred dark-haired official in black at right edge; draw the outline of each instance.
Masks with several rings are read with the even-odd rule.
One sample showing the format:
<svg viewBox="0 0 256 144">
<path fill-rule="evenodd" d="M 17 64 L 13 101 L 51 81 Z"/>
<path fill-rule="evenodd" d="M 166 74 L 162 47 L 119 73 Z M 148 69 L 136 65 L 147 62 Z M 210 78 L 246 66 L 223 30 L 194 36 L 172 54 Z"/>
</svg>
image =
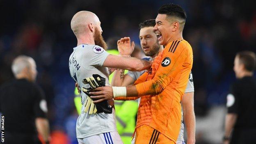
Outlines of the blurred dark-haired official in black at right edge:
<svg viewBox="0 0 256 144">
<path fill-rule="evenodd" d="M 234 71 L 238 80 L 231 85 L 227 95 L 224 144 L 256 143 L 255 66 L 255 53 L 242 51 L 235 56 Z"/>
</svg>

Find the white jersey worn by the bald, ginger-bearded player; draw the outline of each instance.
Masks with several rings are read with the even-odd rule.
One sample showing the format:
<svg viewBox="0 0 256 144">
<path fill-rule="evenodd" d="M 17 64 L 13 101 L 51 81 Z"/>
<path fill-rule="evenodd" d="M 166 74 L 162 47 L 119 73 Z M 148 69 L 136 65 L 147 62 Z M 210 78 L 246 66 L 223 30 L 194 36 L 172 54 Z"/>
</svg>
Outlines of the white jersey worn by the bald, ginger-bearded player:
<svg viewBox="0 0 256 144">
<path fill-rule="evenodd" d="M 101 75 L 106 79 L 105 84 L 110 85 L 108 69 L 102 66 L 109 54 L 103 48 L 95 45 L 81 44 L 73 49 L 73 53 L 69 57 L 69 71 L 73 80 L 78 82 L 80 89 L 81 87 L 90 87 L 89 84 L 84 84 L 82 80 L 91 77 L 93 74 Z M 77 138 L 117 131 L 114 109 L 112 109 L 112 114 L 105 114 L 104 112 L 89 114 L 89 111 L 84 112 L 87 95 L 82 92 L 81 98 L 83 107 L 76 122 Z"/>
</svg>

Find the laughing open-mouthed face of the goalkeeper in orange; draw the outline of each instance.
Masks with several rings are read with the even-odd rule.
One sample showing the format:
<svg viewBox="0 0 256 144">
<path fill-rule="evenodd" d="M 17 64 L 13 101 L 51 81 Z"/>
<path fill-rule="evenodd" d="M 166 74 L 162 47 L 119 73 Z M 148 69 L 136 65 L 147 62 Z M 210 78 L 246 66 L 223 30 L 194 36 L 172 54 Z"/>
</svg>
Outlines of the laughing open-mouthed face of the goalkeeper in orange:
<svg viewBox="0 0 256 144">
<path fill-rule="evenodd" d="M 172 37 L 172 23 L 167 20 L 166 14 L 158 14 L 155 18 L 154 30 L 160 45 L 167 45 Z"/>
</svg>

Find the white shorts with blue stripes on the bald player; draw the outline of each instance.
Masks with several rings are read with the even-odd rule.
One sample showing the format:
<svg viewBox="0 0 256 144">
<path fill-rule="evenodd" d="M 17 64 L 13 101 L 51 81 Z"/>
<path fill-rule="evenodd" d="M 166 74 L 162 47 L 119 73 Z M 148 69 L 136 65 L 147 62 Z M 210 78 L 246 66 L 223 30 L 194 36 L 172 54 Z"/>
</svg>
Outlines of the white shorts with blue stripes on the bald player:
<svg viewBox="0 0 256 144">
<path fill-rule="evenodd" d="M 123 144 L 117 131 L 101 133 L 83 139 L 78 138 L 78 144 Z"/>
</svg>

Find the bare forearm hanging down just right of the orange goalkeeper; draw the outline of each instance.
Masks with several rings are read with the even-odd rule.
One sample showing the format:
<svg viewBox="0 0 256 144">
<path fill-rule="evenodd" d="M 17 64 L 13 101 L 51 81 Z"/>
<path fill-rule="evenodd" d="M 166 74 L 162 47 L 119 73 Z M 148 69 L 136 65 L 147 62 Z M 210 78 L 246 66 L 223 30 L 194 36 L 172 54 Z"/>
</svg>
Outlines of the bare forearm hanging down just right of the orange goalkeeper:
<svg viewBox="0 0 256 144">
<path fill-rule="evenodd" d="M 187 129 L 187 144 L 195 144 L 196 118 L 194 114 L 194 92 L 185 93 L 181 100 L 185 127 Z"/>
</svg>

